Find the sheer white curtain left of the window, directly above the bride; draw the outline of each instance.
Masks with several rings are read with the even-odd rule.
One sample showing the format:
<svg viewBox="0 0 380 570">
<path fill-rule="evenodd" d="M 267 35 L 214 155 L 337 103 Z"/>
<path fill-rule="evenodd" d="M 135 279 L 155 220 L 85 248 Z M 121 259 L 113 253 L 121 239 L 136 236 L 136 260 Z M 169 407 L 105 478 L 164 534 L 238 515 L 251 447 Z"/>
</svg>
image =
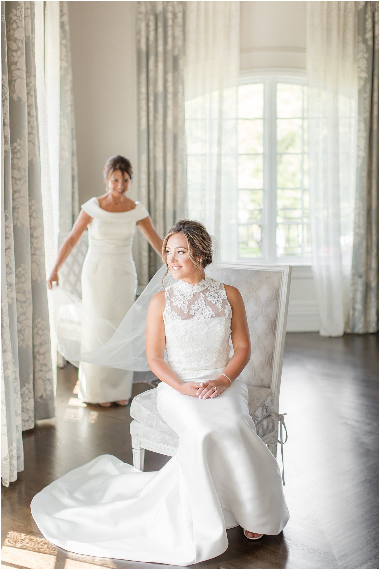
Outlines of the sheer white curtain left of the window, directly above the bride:
<svg viewBox="0 0 380 570">
<path fill-rule="evenodd" d="M 188 217 L 237 259 L 239 2 L 185 2 Z"/>
</svg>

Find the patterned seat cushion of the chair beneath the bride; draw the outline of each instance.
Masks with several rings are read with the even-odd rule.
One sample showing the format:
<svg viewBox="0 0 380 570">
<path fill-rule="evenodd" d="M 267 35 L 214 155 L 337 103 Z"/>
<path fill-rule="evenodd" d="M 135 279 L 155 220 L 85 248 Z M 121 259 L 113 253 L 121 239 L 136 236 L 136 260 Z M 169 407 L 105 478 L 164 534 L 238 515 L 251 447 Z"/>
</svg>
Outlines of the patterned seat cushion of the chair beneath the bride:
<svg viewBox="0 0 380 570">
<path fill-rule="evenodd" d="M 249 413 L 255 426 L 257 426 L 272 411 L 273 396 L 269 388 L 257 388 L 256 386 L 248 386 L 248 396 Z M 157 438 L 160 437 L 160 434 L 170 434 L 171 438 L 175 435 L 177 438 L 175 432 L 163 421 L 158 412 L 156 388 L 146 390 L 146 392 L 135 396 L 131 403 L 130 414 L 135 420 L 150 429 L 151 433 L 159 432 L 153 441 L 158 441 Z M 166 443 L 166 440 L 162 443 Z M 172 444 L 167 443 L 167 445 Z"/>
</svg>

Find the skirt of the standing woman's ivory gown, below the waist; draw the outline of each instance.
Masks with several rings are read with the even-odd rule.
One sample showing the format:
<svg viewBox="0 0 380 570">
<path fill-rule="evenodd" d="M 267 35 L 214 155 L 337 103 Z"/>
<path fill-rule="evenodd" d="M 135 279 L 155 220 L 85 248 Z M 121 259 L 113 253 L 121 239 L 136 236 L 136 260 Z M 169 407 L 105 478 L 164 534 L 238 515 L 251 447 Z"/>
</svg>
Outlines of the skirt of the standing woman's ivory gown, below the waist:
<svg viewBox="0 0 380 570">
<path fill-rule="evenodd" d="M 82 268 L 82 349 L 93 351 L 105 344 L 136 298 L 137 274 L 129 249 L 102 251 L 90 246 Z M 101 323 L 101 324 L 99 324 Z M 93 404 L 128 400 L 133 372 L 80 363 L 79 397 Z"/>
</svg>

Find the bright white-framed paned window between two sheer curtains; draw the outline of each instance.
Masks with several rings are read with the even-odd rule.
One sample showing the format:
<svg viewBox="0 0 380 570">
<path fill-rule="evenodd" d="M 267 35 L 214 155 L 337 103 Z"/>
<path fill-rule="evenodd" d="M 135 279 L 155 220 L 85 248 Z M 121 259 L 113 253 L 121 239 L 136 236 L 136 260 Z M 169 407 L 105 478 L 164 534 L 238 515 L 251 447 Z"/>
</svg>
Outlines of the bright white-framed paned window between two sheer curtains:
<svg viewBox="0 0 380 570">
<path fill-rule="evenodd" d="M 267 75 L 239 86 L 241 259 L 310 260 L 306 96 L 300 78 Z"/>
</svg>

